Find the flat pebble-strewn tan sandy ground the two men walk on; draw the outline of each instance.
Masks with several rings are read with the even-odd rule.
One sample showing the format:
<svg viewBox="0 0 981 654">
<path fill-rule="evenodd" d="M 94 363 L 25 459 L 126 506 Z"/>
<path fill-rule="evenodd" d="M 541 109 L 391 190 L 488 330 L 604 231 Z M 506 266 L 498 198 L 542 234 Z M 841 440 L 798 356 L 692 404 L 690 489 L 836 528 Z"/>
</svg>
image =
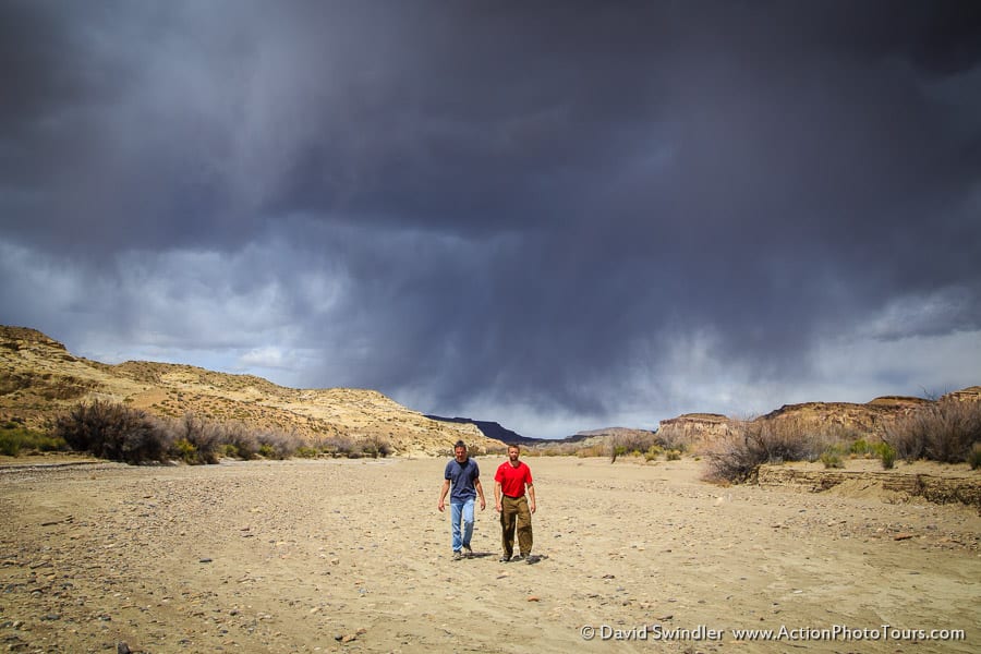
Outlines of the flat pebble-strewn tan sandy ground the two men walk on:
<svg viewBox="0 0 981 654">
<path fill-rule="evenodd" d="M 462 561 L 436 510 L 444 459 L 2 468 L 0 647 L 981 649 L 977 509 L 719 487 L 692 459 L 529 458 L 542 558 L 501 564 L 501 460 L 479 459 L 489 502 Z"/>
</svg>

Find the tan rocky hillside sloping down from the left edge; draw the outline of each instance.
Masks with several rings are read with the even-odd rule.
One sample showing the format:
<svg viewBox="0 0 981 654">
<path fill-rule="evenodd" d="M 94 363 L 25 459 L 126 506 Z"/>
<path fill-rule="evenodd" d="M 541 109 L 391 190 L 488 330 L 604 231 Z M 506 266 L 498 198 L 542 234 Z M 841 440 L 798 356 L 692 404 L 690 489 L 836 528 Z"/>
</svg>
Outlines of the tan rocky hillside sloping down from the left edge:
<svg viewBox="0 0 981 654">
<path fill-rule="evenodd" d="M 72 355 L 35 329 L 0 326 L 0 420 L 44 428 L 70 407 L 92 400 L 125 403 L 160 416 L 194 414 L 290 432 L 307 441 L 382 438 L 400 455 L 446 455 L 459 439 L 488 451 L 504 443 L 474 425 L 431 420 L 376 390 L 295 389 L 254 375 L 171 363 L 110 365 Z"/>
</svg>

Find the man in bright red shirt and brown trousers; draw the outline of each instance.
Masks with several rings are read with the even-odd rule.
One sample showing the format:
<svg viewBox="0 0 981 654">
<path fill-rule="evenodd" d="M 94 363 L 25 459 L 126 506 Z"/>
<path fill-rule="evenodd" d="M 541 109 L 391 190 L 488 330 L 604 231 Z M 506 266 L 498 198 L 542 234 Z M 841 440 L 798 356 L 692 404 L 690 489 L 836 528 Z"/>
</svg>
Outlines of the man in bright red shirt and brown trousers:
<svg viewBox="0 0 981 654">
<path fill-rule="evenodd" d="M 500 513 L 501 544 L 504 556 L 500 562 L 524 559 L 529 564 L 531 558 L 532 530 L 531 514 L 535 512 L 535 487 L 532 483 L 531 469 L 519 461 L 521 448 L 517 445 L 508 446 L 508 460 L 497 468 L 494 475 L 494 500 L 497 512 Z M 528 497 L 524 489 L 528 488 Z M 514 554 L 514 531 L 518 532 L 518 547 L 520 554 Z"/>
</svg>

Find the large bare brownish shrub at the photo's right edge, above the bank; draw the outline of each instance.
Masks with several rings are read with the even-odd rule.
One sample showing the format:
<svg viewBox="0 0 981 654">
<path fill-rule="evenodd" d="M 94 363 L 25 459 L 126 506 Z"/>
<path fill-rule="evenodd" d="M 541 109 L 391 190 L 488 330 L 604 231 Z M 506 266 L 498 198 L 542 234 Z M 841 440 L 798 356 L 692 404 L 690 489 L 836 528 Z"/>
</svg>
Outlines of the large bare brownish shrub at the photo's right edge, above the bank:
<svg viewBox="0 0 981 654">
<path fill-rule="evenodd" d="M 967 461 L 974 443 L 981 443 L 981 402 L 934 402 L 887 425 L 883 440 L 907 461 Z"/>
</svg>

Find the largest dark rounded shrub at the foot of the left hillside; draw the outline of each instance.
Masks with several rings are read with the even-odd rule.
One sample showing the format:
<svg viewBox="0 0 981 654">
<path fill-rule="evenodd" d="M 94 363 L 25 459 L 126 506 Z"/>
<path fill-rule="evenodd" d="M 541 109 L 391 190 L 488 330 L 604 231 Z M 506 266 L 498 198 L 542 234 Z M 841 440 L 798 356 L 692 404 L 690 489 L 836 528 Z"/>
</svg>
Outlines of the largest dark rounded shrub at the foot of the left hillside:
<svg viewBox="0 0 981 654">
<path fill-rule="evenodd" d="M 52 435 L 76 451 L 126 463 L 165 461 L 169 445 L 167 429 L 143 411 L 99 400 L 59 416 Z"/>
</svg>

